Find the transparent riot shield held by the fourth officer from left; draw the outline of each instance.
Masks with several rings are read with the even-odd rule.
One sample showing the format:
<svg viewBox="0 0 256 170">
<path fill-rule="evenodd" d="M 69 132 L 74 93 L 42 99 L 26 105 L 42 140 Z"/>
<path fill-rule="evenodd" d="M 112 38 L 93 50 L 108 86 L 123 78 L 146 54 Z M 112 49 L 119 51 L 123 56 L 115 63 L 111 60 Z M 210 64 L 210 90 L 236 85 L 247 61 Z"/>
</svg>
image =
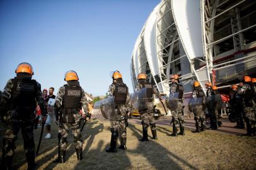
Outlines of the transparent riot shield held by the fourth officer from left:
<svg viewBox="0 0 256 170">
<path fill-rule="evenodd" d="M 138 110 L 153 110 L 153 98 L 147 95 L 148 88 L 142 88 L 138 91 Z"/>
</svg>

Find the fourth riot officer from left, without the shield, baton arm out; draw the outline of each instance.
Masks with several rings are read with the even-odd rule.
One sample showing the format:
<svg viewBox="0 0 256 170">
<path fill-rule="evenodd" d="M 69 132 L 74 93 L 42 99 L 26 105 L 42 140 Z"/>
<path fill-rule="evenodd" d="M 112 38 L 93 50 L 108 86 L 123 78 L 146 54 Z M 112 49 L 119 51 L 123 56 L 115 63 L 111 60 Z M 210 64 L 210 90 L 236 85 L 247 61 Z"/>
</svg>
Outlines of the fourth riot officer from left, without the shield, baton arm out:
<svg viewBox="0 0 256 170">
<path fill-rule="evenodd" d="M 153 113 L 153 94 L 156 94 L 158 98 L 161 99 L 160 93 L 154 89 L 152 84 L 146 81 L 146 74 L 140 73 L 137 76 L 137 90 L 146 89 L 146 105 L 144 108 L 139 108 L 139 113 L 141 114 L 141 124 L 143 125 L 143 138 L 140 139 L 141 142 L 148 141 L 148 127 L 151 128 L 153 135 L 152 139 L 158 139 L 156 135 L 156 123 L 154 122 L 154 113 Z"/>
</svg>

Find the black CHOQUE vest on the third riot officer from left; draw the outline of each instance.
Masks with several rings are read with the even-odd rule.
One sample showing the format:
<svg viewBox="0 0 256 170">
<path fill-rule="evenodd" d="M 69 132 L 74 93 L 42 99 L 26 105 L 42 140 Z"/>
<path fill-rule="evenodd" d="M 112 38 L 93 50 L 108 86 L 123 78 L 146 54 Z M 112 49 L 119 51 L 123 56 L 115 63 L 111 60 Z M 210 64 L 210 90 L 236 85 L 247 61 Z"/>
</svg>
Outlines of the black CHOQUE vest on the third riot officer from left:
<svg viewBox="0 0 256 170">
<path fill-rule="evenodd" d="M 113 96 L 115 96 L 115 105 L 125 105 L 127 98 L 128 88 L 126 84 L 115 84 L 115 91 Z"/>
</svg>

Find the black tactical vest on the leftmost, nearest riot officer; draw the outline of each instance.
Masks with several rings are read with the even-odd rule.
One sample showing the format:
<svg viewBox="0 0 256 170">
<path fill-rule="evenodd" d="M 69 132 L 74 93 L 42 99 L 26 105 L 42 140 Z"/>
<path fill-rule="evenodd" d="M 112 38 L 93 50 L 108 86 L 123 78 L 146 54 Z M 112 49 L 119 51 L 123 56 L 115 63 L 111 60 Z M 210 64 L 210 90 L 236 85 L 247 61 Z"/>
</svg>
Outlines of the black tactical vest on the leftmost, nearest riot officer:
<svg viewBox="0 0 256 170">
<path fill-rule="evenodd" d="M 31 115 L 35 111 L 37 81 L 32 79 L 13 79 L 11 108 L 22 114 Z M 25 115 L 24 115 L 25 116 Z"/>
</svg>

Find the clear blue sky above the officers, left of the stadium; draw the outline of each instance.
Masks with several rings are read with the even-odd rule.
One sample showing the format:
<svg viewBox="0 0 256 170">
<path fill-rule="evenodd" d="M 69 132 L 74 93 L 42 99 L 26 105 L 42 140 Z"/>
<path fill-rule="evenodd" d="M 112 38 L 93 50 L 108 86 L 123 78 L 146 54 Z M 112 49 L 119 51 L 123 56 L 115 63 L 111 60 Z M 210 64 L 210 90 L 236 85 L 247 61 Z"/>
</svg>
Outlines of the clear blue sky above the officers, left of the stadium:
<svg viewBox="0 0 256 170">
<path fill-rule="evenodd" d="M 82 88 L 105 94 L 119 70 L 132 92 L 131 54 L 144 22 L 160 0 L 0 0 L 0 89 L 20 62 L 33 65 L 42 89 L 57 89 L 66 71 Z"/>
</svg>

